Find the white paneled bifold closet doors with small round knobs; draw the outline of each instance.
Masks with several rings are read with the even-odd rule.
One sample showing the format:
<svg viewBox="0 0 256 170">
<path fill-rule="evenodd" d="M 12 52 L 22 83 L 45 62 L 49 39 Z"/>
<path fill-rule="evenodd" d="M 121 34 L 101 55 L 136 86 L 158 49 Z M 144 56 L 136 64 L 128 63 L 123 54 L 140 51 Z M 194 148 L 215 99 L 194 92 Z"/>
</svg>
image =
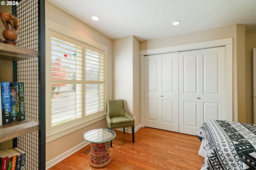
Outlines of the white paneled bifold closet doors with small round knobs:
<svg viewBox="0 0 256 170">
<path fill-rule="evenodd" d="M 144 125 L 196 135 L 226 119 L 225 62 L 225 47 L 144 56 Z"/>
</svg>

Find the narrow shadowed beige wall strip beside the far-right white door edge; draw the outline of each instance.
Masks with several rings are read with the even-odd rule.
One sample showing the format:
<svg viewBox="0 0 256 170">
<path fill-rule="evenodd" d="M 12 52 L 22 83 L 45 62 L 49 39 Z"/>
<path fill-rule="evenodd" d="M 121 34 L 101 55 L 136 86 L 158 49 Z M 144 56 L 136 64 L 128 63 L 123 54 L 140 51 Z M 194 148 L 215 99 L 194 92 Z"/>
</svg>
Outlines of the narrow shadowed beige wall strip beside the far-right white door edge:
<svg viewBox="0 0 256 170">
<path fill-rule="evenodd" d="M 246 122 L 253 123 L 252 49 L 256 48 L 256 32 L 245 34 Z"/>
</svg>

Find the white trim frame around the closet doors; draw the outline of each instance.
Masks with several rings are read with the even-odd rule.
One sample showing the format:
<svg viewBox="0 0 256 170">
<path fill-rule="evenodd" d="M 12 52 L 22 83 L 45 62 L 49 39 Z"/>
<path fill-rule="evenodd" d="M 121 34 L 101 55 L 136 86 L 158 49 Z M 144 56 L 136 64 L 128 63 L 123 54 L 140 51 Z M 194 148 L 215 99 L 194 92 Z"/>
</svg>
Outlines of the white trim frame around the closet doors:
<svg viewBox="0 0 256 170">
<path fill-rule="evenodd" d="M 158 49 L 149 49 L 140 51 L 140 125 L 144 127 L 144 56 L 163 53 L 173 53 L 180 51 L 189 51 L 197 49 L 206 49 L 212 47 L 226 47 L 226 114 L 227 121 L 237 121 L 237 113 L 233 113 L 233 39 L 218 39 L 213 41 L 204 41 L 200 43 L 191 43 L 186 45 L 177 45 L 172 47 L 163 47 Z"/>
</svg>

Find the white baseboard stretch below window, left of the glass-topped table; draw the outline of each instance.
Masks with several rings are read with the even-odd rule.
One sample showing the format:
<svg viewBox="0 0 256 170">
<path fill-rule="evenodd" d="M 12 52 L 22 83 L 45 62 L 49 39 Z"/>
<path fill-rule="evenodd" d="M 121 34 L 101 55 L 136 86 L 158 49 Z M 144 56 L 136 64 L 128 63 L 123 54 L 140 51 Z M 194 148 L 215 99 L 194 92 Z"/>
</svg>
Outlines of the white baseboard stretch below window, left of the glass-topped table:
<svg viewBox="0 0 256 170">
<path fill-rule="evenodd" d="M 46 170 L 51 168 L 52 166 L 58 164 L 58 162 L 64 160 L 68 156 L 72 155 L 73 153 L 77 152 L 78 150 L 82 149 L 83 147 L 85 147 L 86 145 L 89 145 L 89 144 L 90 144 L 90 142 L 84 141 L 84 142 L 80 143 L 79 145 L 76 145 L 75 147 L 71 148 L 70 150 L 67 150 L 66 152 L 60 154 L 59 156 L 57 156 L 55 158 L 53 158 L 52 160 L 49 160 L 45 164 Z"/>
</svg>

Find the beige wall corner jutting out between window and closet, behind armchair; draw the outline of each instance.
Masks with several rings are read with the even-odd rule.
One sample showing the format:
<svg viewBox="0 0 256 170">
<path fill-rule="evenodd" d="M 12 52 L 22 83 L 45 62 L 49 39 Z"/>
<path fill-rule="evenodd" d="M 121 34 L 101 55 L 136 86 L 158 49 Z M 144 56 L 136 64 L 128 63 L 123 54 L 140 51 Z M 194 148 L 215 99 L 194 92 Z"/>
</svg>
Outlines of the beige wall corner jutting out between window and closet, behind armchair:
<svg viewBox="0 0 256 170">
<path fill-rule="evenodd" d="M 113 99 L 124 99 L 135 127 L 140 124 L 140 42 L 134 36 L 113 40 Z"/>
</svg>

